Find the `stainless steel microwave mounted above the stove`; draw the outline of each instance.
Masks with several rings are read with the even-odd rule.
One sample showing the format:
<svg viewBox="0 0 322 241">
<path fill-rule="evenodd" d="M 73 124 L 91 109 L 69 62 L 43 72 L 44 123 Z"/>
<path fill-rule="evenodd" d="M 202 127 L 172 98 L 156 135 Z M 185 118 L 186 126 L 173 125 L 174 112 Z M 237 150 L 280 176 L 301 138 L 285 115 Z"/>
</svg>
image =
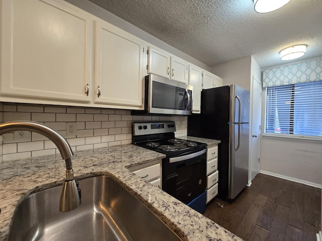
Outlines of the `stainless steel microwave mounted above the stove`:
<svg viewBox="0 0 322 241">
<path fill-rule="evenodd" d="M 165 77 L 146 75 L 145 111 L 151 114 L 192 114 L 192 88 Z"/>
</svg>

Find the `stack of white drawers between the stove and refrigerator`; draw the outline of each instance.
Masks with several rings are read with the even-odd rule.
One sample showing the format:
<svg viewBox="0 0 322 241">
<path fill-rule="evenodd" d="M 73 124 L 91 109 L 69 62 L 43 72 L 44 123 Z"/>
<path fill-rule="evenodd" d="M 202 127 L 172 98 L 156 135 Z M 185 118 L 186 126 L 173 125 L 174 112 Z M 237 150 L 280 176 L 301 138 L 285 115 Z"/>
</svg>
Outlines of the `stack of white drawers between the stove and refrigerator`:
<svg viewBox="0 0 322 241">
<path fill-rule="evenodd" d="M 218 194 L 218 145 L 210 146 L 207 150 L 207 199 L 208 203 Z"/>
</svg>

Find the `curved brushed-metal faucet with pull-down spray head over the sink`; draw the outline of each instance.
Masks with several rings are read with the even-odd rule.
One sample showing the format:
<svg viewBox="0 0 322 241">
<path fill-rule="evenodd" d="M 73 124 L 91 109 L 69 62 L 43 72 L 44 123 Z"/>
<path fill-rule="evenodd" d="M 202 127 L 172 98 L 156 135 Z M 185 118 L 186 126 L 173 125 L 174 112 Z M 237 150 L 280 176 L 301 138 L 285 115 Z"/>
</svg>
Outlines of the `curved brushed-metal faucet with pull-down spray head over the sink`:
<svg viewBox="0 0 322 241">
<path fill-rule="evenodd" d="M 37 122 L 16 121 L 0 124 L 0 135 L 15 131 L 36 132 L 49 138 L 56 145 L 66 163 L 66 178 L 60 195 L 59 210 L 68 212 L 81 205 L 81 190 L 78 189 L 78 183 L 74 179 L 71 165 L 73 153 L 67 140 L 51 127 Z"/>
</svg>

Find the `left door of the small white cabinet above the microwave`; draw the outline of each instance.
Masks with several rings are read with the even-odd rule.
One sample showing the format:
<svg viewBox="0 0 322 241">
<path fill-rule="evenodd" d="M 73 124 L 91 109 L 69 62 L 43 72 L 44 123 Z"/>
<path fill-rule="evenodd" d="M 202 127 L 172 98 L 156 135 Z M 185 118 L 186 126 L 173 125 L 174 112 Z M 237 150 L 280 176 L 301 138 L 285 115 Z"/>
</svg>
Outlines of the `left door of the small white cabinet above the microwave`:
<svg viewBox="0 0 322 241">
<path fill-rule="evenodd" d="M 170 54 L 148 47 L 147 73 L 170 78 Z"/>
</svg>

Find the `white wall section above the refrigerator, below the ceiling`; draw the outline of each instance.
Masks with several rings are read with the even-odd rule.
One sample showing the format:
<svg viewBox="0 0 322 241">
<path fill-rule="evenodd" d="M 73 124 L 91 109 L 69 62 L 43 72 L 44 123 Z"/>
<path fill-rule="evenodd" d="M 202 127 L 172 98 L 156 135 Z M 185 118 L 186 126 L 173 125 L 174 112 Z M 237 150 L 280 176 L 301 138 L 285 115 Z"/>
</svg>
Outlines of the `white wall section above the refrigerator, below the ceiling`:
<svg viewBox="0 0 322 241">
<path fill-rule="evenodd" d="M 251 88 L 252 56 L 243 57 L 211 68 L 211 72 L 223 78 L 223 85 L 237 84 L 244 89 Z"/>
</svg>

